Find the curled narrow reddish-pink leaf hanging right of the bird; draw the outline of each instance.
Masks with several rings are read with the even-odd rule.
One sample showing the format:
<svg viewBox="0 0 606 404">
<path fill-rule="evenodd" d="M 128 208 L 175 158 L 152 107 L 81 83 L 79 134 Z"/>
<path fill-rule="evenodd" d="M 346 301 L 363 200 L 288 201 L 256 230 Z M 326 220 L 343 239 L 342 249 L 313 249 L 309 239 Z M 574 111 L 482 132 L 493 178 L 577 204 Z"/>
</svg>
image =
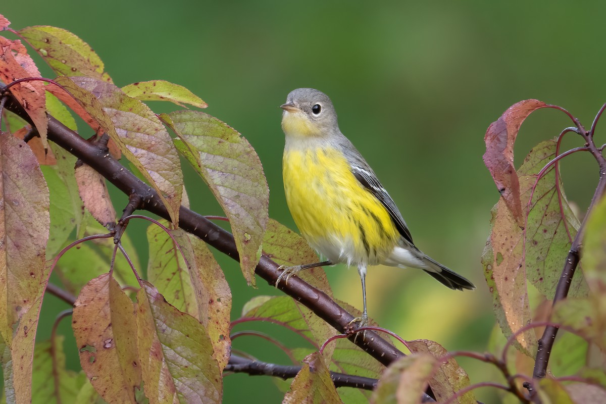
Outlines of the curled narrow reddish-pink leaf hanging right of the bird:
<svg viewBox="0 0 606 404">
<path fill-rule="evenodd" d="M 513 146 L 524 119 L 545 105 L 547 104 L 536 99 L 527 99 L 511 105 L 501 118 L 490 124 L 484 136 L 486 143 L 486 153 L 482 157 L 484 164 L 519 227 L 524 227 L 524 215 L 520 202 L 518 175 L 513 165 Z"/>
</svg>

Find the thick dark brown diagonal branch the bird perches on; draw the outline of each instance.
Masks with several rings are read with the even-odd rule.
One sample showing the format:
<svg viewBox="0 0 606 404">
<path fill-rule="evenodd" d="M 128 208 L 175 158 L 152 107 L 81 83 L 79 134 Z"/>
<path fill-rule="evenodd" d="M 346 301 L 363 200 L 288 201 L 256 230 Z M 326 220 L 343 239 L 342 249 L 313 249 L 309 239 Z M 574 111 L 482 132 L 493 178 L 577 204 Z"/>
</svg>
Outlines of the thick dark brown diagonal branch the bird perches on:
<svg viewBox="0 0 606 404">
<path fill-rule="evenodd" d="M 5 107 L 31 123 L 29 116 L 13 96 L 8 96 Z M 127 196 L 132 194 L 140 196 L 142 209 L 170 220 L 164 204 L 151 187 L 139 180 L 135 174 L 113 159 L 112 156 L 100 152 L 98 145 L 85 141 L 78 133 L 65 127 L 50 115 L 48 115 L 48 140 L 55 142 L 59 147 L 64 148 L 85 164 L 90 165 Z M 239 259 L 233 235 L 213 224 L 201 214 L 181 206 L 179 209 L 179 227 L 188 233 L 195 234 L 221 253 L 235 260 Z M 275 285 L 279 276 L 278 267 L 279 265 L 267 256 L 261 256 L 255 273 L 270 285 Z M 281 282 L 279 289 L 288 296 L 295 298 L 297 302 L 310 308 L 311 311 L 341 333 L 345 333 L 350 328 L 350 322 L 354 317 L 335 303 L 327 294 L 310 286 L 301 278 L 293 277 L 288 281 L 288 285 Z M 349 337 L 351 342 L 354 338 L 355 334 Z M 404 356 L 404 353 L 373 331 L 367 331 L 366 338 L 358 339 L 355 343 L 386 366 Z"/>
</svg>

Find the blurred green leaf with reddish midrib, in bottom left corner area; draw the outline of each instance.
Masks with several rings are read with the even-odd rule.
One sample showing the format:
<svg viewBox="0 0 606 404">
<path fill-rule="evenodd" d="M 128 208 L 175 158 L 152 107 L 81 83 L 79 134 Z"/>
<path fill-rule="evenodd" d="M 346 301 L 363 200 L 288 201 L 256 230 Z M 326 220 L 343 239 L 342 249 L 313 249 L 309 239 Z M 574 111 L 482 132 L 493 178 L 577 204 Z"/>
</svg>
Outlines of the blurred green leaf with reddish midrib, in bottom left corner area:
<svg viewBox="0 0 606 404">
<path fill-rule="evenodd" d="M 63 336 L 36 343 L 32 377 L 32 402 L 75 403 L 87 383 L 84 373 L 65 368 Z M 59 388 L 58 390 L 56 388 Z"/>
</svg>

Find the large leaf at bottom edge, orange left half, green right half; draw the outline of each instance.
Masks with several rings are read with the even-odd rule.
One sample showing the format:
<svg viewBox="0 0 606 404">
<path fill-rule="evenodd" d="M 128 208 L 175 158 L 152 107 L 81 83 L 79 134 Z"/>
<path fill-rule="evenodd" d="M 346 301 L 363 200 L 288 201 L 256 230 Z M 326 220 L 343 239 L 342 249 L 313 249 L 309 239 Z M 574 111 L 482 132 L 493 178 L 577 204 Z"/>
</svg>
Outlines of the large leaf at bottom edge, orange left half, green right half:
<svg viewBox="0 0 606 404">
<path fill-rule="evenodd" d="M 137 294 L 137 328 L 150 403 L 220 403 L 222 377 L 204 326 L 169 305 L 148 282 Z"/>
</svg>

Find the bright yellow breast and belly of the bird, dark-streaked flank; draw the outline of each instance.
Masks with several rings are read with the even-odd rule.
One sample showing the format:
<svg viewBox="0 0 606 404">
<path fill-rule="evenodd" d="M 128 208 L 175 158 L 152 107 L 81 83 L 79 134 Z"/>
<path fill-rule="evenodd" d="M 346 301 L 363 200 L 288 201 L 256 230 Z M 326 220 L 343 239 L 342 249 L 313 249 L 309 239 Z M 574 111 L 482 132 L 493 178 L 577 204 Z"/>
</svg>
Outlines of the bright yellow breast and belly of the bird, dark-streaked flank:
<svg viewBox="0 0 606 404">
<path fill-rule="evenodd" d="M 293 219 L 316 251 L 348 265 L 376 265 L 391 253 L 398 230 L 337 150 L 285 150 L 283 175 Z"/>
</svg>

